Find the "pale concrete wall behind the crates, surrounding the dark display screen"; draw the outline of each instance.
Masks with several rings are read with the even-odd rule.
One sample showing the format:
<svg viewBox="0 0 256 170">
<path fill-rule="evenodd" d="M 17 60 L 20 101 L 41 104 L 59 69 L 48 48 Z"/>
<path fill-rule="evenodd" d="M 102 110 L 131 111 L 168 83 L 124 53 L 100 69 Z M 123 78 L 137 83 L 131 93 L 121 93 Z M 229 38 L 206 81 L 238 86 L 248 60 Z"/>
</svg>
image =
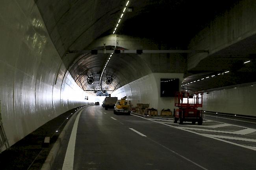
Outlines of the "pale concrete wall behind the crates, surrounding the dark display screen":
<svg viewBox="0 0 256 170">
<path fill-rule="evenodd" d="M 183 80 L 183 73 L 152 73 L 132 81 L 127 85 L 115 90 L 111 96 L 117 96 L 119 99 L 127 96 L 133 107 L 137 103 L 149 103 L 150 108 L 158 109 L 158 114 L 161 114 L 162 109 L 174 108 L 173 97 L 160 97 L 160 79 L 161 78 L 179 78 L 180 84 Z"/>
</svg>

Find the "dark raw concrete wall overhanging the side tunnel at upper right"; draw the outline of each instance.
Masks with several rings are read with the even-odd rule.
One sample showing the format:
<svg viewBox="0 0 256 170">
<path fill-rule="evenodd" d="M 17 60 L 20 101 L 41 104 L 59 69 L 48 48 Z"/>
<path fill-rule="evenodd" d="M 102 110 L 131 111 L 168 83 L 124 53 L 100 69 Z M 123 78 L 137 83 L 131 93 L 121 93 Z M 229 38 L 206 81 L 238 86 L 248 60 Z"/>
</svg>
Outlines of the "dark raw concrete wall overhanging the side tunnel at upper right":
<svg viewBox="0 0 256 170">
<path fill-rule="evenodd" d="M 256 34 L 255 0 L 239 1 L 222 15 L 216 16 L 208 27 L 191 40 L 189 49 L 209 50 L 211 54 Z M 188 70 L 193 69 L 208 54 L 188 57 Z"/>
</svg>

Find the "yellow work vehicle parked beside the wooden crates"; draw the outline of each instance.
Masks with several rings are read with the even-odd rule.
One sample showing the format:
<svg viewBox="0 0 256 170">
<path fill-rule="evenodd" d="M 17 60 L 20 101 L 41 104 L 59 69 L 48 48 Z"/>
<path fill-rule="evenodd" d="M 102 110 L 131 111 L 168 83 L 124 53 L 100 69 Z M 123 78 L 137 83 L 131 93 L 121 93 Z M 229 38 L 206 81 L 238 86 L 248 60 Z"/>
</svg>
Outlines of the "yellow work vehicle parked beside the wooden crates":
<svg viewBox="0 0 256 170">
<path fill-rule="evenodd" d="M 130 105 L 126 99 L 126 96 L 124 96 L 121 100 L 117 100 L 114 108 L 114 114 L 131 114 Z"/>
</svg>

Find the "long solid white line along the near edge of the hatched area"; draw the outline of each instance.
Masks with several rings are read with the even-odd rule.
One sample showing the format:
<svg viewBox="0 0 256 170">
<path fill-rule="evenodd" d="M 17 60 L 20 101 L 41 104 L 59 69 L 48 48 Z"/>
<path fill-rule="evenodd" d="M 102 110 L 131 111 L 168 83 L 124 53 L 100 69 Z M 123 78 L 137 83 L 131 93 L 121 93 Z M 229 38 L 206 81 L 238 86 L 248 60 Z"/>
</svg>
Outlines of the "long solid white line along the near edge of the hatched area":
<svg viewBox="0 0 256 170">
<path fill-rule="evenodd" d="M 135 115 L 135 114 L 132 114 L 132 115 L 133 115 L 133 116 L 137 116 L 137 115 Z M 141 116 L 137 116 L 137 117 L 142 118 L 142 119 L 149 120 L 149 119 L 143 118 L 143 117 L 141 117 Z M 256 147 L 245 146 L 245 145 L 241 145 L 241 144 L 238 144 L 238 143 L 234 143 L 234 142 L 230 142 L 230 141 L 225 141 L 225 140 L 223 140 L 223 139 L 219 139 L 219 138 L 216 138 L 216 137 L 207 136 L 207 135 L 205 135 L 205 134 L 200 134 L 200 133 L 198 133 L 198 132 L 193 132 L 193 131 L 191 131 L 191 130 L 182 129 L 182 128 L 180 128 L 180 127 L 176 127 L 176 126 L 172 126 L 172 125 L 167 125 L 167 124 L 164 124 L 164 123 L 161 123 L 161 122 L 158 122 L 158 121 L 154 121 L 154 120 L 149 120 L 149 121 L 153 121 L 153 122 L 155 122 L 155 123 L 160 123 L 160 124 L 165 125 L 165 126 L 173 127 L 173 128 L 180 129 L 180 130 L 184 130 L 184 131 L 187 131 L 187 132 L 190 132 L 190 133 L 193 133 L 193 134 L 197 134 L 197 135 L 204 136 L 204 137 L 209 137 L 209 138 L 215 139 L 215 140 L 217 140 L 217 141 L 223 141 L 223 142 L 225 142 L 225 143 L 229 143 L 229 144 L 232 144 L 232 145 L 236 145 L 236 146 L 240 146 L 240 147 L 243 147 L 243 148 L 247 148 L 247 149 L 255 150 L 255 151 L 256 151 Z"/>
</svg>

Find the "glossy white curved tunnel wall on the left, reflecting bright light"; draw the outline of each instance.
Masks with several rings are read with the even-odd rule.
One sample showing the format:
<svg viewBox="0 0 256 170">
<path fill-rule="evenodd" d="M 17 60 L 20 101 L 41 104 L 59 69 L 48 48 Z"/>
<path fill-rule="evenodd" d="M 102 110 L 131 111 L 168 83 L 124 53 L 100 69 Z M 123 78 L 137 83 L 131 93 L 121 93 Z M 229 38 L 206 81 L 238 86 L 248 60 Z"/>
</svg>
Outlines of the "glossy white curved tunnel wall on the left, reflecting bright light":
<svg viewBox="0 0 256 170">
<path fill-rule="evenodd" d="M 9 145 L 92 103 L 64 67 L 33 0 L 2 1 L 0 29 L 0 119 Z"/>
</svg>

